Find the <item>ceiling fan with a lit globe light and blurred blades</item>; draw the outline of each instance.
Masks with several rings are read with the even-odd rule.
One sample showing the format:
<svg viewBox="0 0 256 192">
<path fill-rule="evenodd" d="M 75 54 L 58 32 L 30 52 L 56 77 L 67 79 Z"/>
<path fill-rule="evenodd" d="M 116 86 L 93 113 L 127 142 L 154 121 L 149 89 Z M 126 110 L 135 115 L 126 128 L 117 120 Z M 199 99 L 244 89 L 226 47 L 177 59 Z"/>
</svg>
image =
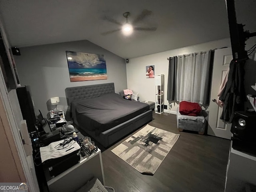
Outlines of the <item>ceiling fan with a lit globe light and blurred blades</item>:
<svg viewBox="0 0 256 192">
<path fill-rule="evenodd" d="M 152 14 L 152 11 L 150 10 L 146 10 L 144 9 L 141 14 L 139 14 L 133 21 L 132 23 L 128 22 L 128 18 L 130 17 L 130 12 L 125 12 L 123 14 L 124 18 L 126 18 L 126 22 L 124 24 L 118 22 L 117 20 L 113 19 L 113 18 L 108 18 L 108 17 L 104 17 L 104 20 L 107 20 L 109 22 L 112 22 L 114 24 L 119 25 L 120 27 L 118 29 L 115 30 L 111 30 L 108 32 L 104 32 L 102 33 L 102 35 L 108 35 L 117 31 L 122 30 L 122 32 L 124 33 L 124 35 L 130 35 L 132 34 L 133 30 L 138 30 L 138 31 L 155 31 L 156 27 L 136 27 L 134 26 L 135 24 L 137 24 L 138 22 L 142 21 L 145 17 L 150 16 Z"/>
</svg>

